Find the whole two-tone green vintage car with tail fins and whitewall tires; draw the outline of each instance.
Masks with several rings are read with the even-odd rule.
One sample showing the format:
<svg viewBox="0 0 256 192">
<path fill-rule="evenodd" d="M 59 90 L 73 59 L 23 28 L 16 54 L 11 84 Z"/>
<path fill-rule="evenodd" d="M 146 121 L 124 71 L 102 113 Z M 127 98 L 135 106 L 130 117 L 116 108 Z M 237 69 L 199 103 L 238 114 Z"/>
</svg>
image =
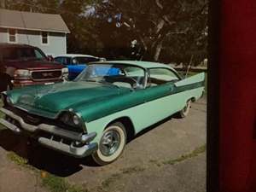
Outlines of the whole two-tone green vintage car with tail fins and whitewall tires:
<svg viewBox="0 0 256 192">
<path fill-rule="evenodd" d="M 94 62 L 73 81 L 4 92 L 0 123 L 47 148 L 77 158 L 91 154 L 104 165 L 149 125 L 174 113 L 185 117 L 204 80 L 204 73 L 183 79 L 154 62 Z"/>
</svg>

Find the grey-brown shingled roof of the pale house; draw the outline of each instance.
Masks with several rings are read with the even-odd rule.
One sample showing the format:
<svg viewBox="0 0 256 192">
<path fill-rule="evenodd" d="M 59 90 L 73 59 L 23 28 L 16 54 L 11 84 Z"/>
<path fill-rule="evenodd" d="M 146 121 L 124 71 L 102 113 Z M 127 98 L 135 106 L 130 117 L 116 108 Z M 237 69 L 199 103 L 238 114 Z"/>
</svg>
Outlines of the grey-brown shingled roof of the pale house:
<svg viewBox="0 0 256 192">
<path fill-rule="evenodd" d="M 0 27 L 45 32 L 70 32 L 61 15 L 9 9 L 0 9 Z"/>
</svg>

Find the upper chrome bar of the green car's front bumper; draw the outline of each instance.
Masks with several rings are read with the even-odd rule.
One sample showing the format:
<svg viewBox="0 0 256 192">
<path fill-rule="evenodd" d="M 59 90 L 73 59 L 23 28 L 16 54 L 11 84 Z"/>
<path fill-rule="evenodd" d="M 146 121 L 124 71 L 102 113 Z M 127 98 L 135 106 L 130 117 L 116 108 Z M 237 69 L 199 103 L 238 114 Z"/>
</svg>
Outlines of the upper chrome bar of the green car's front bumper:
<svg viewBox="0 0 256 192">
<path fill-rule="evenodd" d="M 45 131 L 45 132 L 49 132 L 56 136 L 71 139 L 72 141 L 78 141 L 80 143 L 88 143 L 96 137 L 96 132 L 91 132 L 90 134 L 83 134 L 83 133 L 79 133 L 79 132 L 75 132 L 75 131 L 68 131 L 65 129 L 61 129 L 60 127 L 57 127 L 55 125 L 40 124 L 40 125 L 36 126 L 36 125 L 26 124 L 26 122 L 24 122 L 24 120 L 22 118 L 20 118 L 20 116 L 9 111 L 6 108 L 0 108 L 0 111 L 2 113 L 7 114 L 12 119 L 17 120 L 20 123 L 20 126 L 26 131 L 30 131 L 30 132 Z M 15 131 L 15 129 L 18 128 L 16 125 L 9 123 L 9 121 L 7 121 L 5 119 L 1 119 L 0 123 L 12 131 Z"/>
</svg>

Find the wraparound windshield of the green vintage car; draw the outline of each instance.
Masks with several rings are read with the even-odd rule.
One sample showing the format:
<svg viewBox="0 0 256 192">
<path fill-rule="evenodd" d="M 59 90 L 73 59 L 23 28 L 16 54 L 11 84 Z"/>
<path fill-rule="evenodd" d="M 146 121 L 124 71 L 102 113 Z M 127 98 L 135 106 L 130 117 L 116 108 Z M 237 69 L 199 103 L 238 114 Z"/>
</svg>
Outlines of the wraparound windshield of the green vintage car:
<svg viewBox="0 0 256 192">
<path fill-rule="evenodd" d="M 122 64 L 90 64 L 75 81 L 142 89 L 145 86 L 145 70 L 141 67 Z"/>
</svg>

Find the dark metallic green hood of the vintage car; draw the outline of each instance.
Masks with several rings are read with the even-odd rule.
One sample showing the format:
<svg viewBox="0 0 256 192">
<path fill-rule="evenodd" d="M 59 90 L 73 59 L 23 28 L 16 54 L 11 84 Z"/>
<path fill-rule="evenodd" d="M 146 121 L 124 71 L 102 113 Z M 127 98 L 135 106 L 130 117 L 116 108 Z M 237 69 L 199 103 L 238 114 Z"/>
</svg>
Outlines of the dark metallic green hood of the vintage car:
<svg viewBox="0 0 256 192">
<path fill-rule="evenodd" d="M 73 108 L 75 110 L 76 106 L 82 104 L 103 102 L 130 91 L 130 89 L 109 84 L 64 82 L 13 90 L 9 92 L 9 96 L 17 107 L 26 111 L 44 111 L 56 114 L 65 109 Z"/>
</svg>

